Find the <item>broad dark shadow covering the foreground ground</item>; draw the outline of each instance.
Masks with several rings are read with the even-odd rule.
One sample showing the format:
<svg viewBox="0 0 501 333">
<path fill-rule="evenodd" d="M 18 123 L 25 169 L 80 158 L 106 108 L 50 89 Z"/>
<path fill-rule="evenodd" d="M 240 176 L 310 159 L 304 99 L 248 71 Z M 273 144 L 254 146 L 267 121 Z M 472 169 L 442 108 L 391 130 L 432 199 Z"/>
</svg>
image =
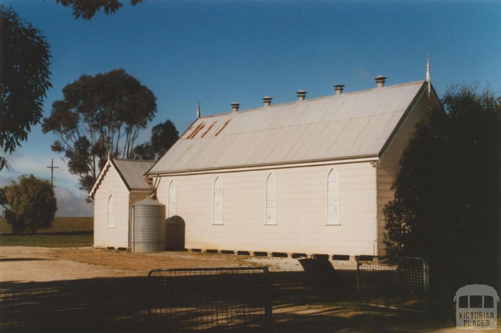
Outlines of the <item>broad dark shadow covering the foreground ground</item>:
<svg viewBox="0 0 501 333">
<path fill-rule="evenodd" d="M 180 278 L 0 283 L 0 330 L 265 331 L 265 291 L 259 281 L 233 274 Z M 335 278 L 272 272 L 270 280 L 275 332 L 433 331 L 453 324 L 430 322 L 420 314 L 359 308 L 355 271 L 337 271 Z M 172 322 L 189 325 L 174 327 Z"/>
</svg>

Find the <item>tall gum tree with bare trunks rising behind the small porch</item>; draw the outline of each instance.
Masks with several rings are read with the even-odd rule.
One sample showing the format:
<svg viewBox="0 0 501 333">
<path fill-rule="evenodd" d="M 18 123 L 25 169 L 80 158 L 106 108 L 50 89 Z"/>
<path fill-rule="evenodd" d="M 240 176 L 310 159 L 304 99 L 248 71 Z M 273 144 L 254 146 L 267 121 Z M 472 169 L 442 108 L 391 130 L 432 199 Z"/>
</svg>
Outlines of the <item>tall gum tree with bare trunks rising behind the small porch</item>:
<svg viewBox="0 0 501 333">
<path fill-rule="evenodd" d="M 79 175 L 80 189 L 89 191 L 108 151 L 129 157 L 156 113 L 156 97 L 123 69 L 82 75 L 64 87 L 63 95 L 52 104 L 42 131 L 56 134 L 52 150 L 66 156 L 69 171 Z"/>
</svg>

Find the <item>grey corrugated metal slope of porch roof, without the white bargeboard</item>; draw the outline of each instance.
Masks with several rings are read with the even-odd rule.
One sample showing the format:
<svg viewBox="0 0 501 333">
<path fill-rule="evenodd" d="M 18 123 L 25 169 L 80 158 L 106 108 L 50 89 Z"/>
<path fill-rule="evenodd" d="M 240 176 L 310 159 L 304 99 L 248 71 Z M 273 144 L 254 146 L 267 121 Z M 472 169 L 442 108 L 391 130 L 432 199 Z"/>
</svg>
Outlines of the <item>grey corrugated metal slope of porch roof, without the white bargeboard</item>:
<svg viewBox="0 0 501 333">
<path fill-rule="evenodd" d="M 155 164 L 155 160 L 113 158 L 112 161 L 129 189 L 151 189 L 143 175 Z"/>
</svg>

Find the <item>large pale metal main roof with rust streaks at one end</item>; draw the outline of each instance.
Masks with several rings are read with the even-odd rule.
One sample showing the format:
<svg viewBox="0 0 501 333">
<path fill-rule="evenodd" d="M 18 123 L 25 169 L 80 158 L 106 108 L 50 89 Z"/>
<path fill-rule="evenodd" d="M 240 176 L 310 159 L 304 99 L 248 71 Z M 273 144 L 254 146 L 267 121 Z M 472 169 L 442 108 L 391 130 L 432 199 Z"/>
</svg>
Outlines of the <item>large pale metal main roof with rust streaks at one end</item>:
<svg viewBox="0 0 501 333">
<path fill-rule="evenodd" d="M 377 155 L 424 83 L 201 117 L 149 173 Z"/>
</svg>

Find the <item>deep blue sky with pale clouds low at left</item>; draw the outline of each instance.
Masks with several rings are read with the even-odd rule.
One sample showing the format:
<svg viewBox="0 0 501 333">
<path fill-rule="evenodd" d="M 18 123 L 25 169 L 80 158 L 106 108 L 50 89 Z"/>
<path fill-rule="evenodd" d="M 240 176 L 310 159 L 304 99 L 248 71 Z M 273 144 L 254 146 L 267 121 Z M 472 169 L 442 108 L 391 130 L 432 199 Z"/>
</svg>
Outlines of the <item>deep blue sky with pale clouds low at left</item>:
<svg viewBox="0 0 501 333">
<path fill-rule="evenodd" d="M 32 23 L 51 45 L 53 88 L 45 115 L 63 87 L 83 74 L 124 68 L 157 97 L 152 125 L 171 119 L 182 132 L 196 116 L 425 78 L 431 58 L 439 94 L 453 83 L 489 83 L 501 88 L 501 2 L 499 1 L 159 1 L 115 14 L 75 19 L 55 0 L 2 0 Z M 58 215 L 92 215 L 78 180 L 50 149 L 52 134 L 35 126 L 28 141 L 7 156 L 10 170 L 0 186 L 20 174 L 50 178 L 54 158 Z"/>
</svg>

